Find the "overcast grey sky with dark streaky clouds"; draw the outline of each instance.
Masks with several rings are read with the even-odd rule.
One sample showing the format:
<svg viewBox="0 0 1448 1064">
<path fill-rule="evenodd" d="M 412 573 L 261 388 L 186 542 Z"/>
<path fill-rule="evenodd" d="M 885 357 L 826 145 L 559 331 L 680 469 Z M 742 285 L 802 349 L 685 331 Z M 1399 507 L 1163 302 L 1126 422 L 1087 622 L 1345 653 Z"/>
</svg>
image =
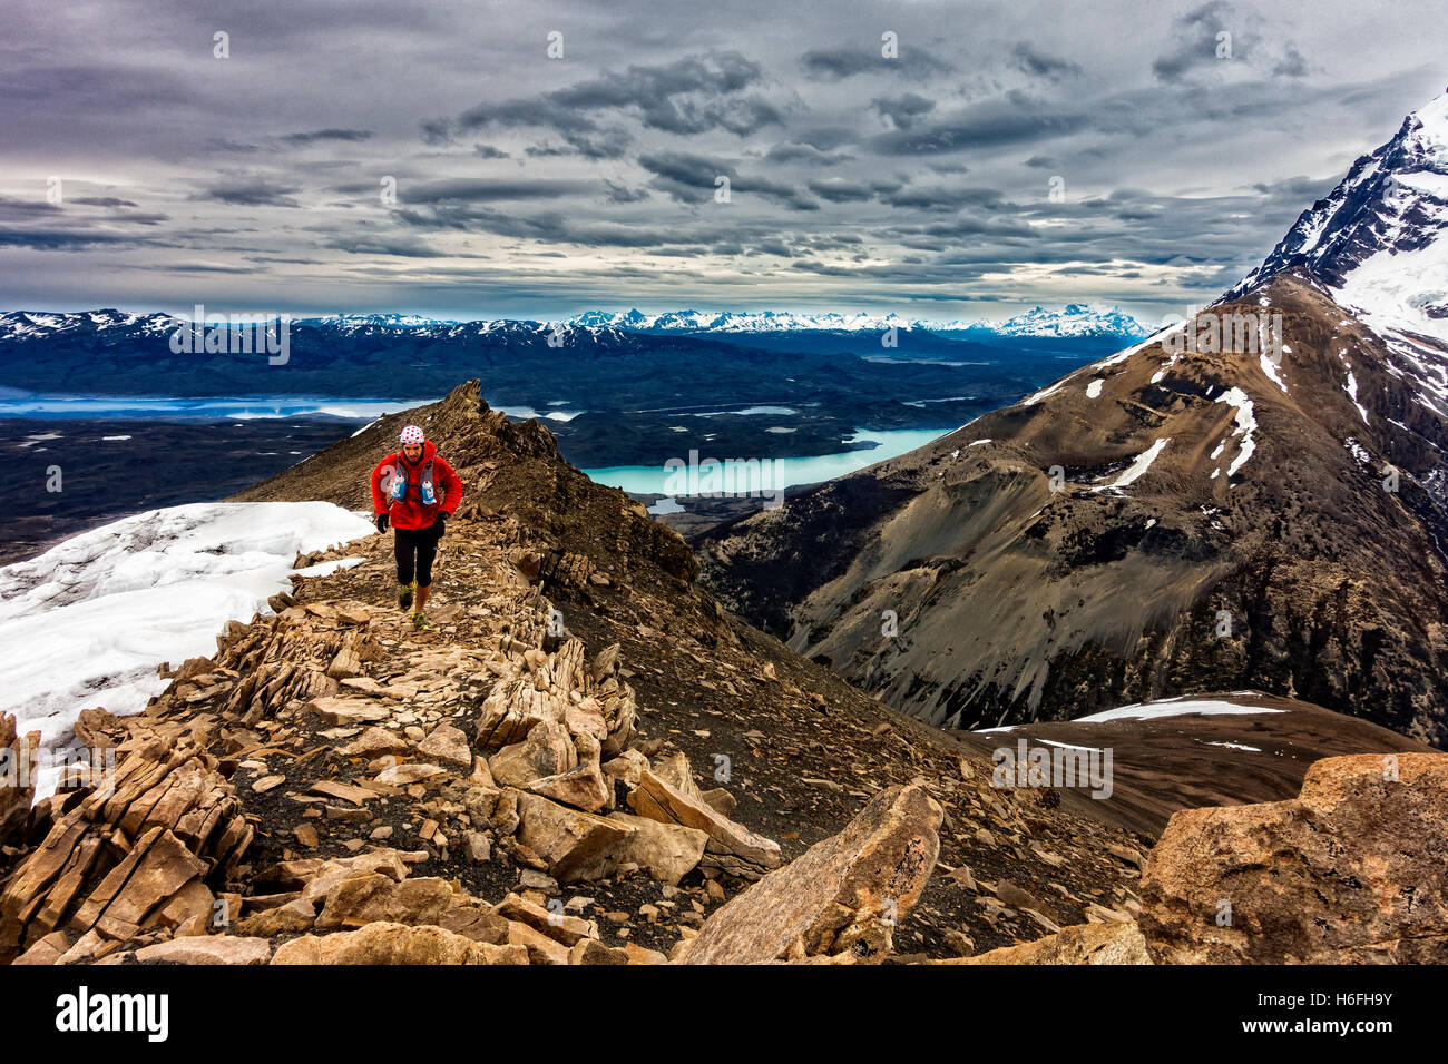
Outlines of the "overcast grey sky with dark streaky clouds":
<svg viewBox="0 0 1448 1064">
<path fill-rule="evenodd" d="M 1444 13 L 4 0 L 0 310 L 1157 321 L 1444 91 Z"/>
</svg>

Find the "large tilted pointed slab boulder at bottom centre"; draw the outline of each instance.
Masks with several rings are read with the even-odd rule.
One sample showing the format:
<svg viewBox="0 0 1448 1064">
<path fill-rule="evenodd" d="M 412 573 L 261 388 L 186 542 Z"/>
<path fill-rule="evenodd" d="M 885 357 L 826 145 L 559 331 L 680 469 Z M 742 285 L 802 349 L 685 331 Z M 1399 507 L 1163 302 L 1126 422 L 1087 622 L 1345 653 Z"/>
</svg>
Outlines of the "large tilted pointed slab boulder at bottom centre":
<svg viewBox="0 0 1448 1064">
<path fill-rule="evenodd" d="M 883 960 L 895 925 L 919 900 L 935 867 L 943 815 L 919 782 L 882 790 L 838 835 L 815 843 L 704 921 L 682 963 Z"/>
</svg>

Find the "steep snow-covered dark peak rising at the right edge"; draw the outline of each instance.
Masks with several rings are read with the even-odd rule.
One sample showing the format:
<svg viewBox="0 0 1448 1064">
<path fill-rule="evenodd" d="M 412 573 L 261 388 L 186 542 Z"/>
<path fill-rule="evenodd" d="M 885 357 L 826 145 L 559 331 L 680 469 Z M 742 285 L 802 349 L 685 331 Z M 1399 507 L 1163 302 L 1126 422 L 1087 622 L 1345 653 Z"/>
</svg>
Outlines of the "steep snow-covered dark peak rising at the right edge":
<svg viewBox="0 0 1448 1064">
<path fill-rule="evenodd" d="M 1305 210 L 1237 298 L 1306 268 L 1380 334 L 1448 343 L 1448 94 L 1405 119 L 1332 193 Z"/>
</svg>

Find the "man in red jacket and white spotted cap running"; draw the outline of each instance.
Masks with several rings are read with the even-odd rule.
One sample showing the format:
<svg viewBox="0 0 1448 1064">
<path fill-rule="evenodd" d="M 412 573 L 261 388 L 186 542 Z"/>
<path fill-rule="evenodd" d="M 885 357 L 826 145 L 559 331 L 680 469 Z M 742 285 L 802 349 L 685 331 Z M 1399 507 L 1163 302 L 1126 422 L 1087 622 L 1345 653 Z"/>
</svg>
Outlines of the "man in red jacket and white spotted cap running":
<svg viewBox="0 0 1448 1064">
<path fill-rule="evenodd" d="M 413 627 L 430 631 L 427 624 L 427 594 L 433 589 L 433 559 L 437 540 L 447 528 L 447 518 L 462 502 L 462 481 L 439 455 L 423 430 L 407 426 L 401 437 L 403 449 L 388 455 L 372 470 L 372 510 L 376 530 L 385 533 L 392 525 L 397 550 L 397 605 L 413 609 Z"/>
</svg>

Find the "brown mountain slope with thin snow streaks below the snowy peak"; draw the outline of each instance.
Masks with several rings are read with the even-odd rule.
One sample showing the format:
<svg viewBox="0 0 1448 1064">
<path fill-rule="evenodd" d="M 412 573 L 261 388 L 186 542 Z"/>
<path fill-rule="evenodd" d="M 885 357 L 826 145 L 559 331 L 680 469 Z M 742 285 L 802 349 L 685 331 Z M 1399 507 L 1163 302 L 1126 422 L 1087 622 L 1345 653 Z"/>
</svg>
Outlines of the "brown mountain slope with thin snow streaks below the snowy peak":
<svg viewBox="0 0 1448 1064">
<path fill-rule="evenodd" d="M 1280 368 L 1154 337 L 705 536 L 704 582 L 934 724 L 1254 688 L 1441 746 L 1445 353 L 1295 274 L 1211 311 L 1280 313 Z"/>
</svg>

